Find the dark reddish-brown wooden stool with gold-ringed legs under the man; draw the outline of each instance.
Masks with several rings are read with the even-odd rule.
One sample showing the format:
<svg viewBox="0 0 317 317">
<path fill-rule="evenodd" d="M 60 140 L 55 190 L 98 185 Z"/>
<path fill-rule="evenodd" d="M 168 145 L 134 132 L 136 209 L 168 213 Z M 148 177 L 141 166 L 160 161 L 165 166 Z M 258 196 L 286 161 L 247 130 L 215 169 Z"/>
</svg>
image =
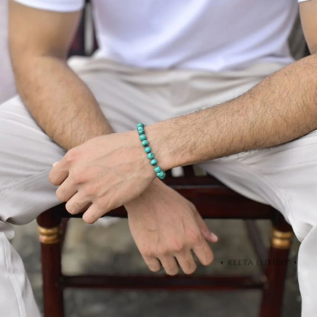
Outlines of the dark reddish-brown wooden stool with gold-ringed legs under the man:
<svg viewBox="0 0 317 317">
<path fill-rule="evenodd" d="M 189 199 L 203 218 L 243 219 L 251 243 L 259 259 L 285 261 L 291 246 L 293 231 L 282 215 L 272 207 L 245 198 L 211 176 L 197 177 L 191 166 L 184 168 L 184 177 L 173 178 L 168 173 L 165 183 Z M 108 216 L 127 217 L 121 207 Z M 61 246 L 70 215 L 65 204 L 44 211 L 38 218 L 41 242 L 44 317 L 64 317 L 63 290 L 65 288 L 108 289 L 196 289 L 237 290 L 262 289 L 260 317 L 281 316 L 286 265 L 262 267 L 258 276 L 66 276 L 61 272 Z M 273 224 L 271 247 L 264 247 L 256 219 L 270 219 Z M 212 265 L 212 264 L 211 264 Z"/>
</svg>

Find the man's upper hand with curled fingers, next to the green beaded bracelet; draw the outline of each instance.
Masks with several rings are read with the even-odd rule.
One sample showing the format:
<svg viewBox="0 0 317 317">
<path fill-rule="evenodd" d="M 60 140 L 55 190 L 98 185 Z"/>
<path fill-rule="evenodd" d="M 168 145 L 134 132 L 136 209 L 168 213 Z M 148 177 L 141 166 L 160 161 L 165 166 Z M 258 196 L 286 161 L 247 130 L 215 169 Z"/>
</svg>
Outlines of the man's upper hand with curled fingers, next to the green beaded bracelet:
<svg viewBox="0 0 317 317">
<path fill-rule="evenodd" d="M 136 131 L 113 133 L 77 146 L 49 173 L 56 195 L 71 214 L 83 210 L 94 223 L 108 211 L 138 197 L 156 177 Z"/>
</svg>

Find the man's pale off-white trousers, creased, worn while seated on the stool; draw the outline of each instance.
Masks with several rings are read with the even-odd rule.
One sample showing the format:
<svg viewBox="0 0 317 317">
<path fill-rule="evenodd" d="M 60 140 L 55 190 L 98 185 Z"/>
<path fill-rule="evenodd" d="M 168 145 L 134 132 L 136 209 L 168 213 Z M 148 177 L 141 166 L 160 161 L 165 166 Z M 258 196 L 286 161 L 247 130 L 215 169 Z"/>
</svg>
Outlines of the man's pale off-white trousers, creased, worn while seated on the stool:
<svg viewBox="0 0 317 317">
<path fill-rule="evenodd" d="M 221 74 L 142 70 L 109 60 L 70 65 L 93 92 L 117 132 L 135 129 L 230 100 L 281 68 L 259 64 Z M 0 314 L 38 317 L 21 258 L 12 248 L 14 224 L 34 220 L 59 202 L 48 174 L 64 155 L 36 124 L 19 97 L 0 106 Z M 317 312 L 317 132 L 271 149 L 217 159 L 201 166 L 235 191 L 272 205 L 302 242 L 299 283 L 302 316 Z"/>
</svg>

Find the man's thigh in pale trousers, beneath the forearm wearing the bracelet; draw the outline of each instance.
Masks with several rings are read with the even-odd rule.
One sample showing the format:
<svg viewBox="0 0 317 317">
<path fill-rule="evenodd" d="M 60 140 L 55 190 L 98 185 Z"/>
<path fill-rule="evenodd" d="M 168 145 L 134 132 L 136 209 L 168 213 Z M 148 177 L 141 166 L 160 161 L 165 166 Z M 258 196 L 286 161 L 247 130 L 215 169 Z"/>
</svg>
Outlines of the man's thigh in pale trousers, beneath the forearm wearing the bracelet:
<svg viewBox="0 0 317 317">
<path fill-rule="evenodd" d="M 201 166 L 235 191 L 279 210 L 300 241 L 317 225 L 317 131 Z"/>
</svg>

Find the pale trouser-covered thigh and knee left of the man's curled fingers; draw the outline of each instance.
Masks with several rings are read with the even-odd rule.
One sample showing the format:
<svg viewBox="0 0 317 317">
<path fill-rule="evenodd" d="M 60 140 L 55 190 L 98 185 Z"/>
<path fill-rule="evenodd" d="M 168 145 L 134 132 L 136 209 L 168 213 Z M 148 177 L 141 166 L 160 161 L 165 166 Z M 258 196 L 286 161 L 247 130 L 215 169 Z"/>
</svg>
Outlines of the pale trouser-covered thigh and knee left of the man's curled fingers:
<svg viewBox="0 0 317 317">
<path fill-rule="evenodd" d="M 18 97 L 0 105 L 1 221 L 27 223 L 58 204 L 48 174 L 64 154 Z"/>
</svg>

